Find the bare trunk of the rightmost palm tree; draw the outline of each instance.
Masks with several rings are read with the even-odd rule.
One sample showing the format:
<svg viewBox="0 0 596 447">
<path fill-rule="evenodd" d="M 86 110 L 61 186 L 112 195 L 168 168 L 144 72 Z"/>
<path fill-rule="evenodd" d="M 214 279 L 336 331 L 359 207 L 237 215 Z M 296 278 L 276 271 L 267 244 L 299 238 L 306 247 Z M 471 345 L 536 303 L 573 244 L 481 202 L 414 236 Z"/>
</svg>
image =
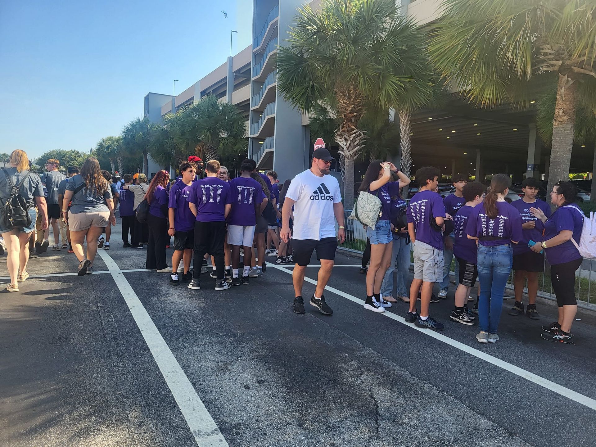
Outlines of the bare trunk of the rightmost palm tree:
<svg viewBox="0 0 596 447">
<path fill-rule="evenodd" d="M 549 193 L 558 181 L 569 180 L 577 105 L 577 83 L 567 76 L 559 75 L 555 116 L 552 120 L 551 163 L 548 170 Z M 550 197 L 547 197 L 547 200 L 550 201 Z"/>
</svg>

